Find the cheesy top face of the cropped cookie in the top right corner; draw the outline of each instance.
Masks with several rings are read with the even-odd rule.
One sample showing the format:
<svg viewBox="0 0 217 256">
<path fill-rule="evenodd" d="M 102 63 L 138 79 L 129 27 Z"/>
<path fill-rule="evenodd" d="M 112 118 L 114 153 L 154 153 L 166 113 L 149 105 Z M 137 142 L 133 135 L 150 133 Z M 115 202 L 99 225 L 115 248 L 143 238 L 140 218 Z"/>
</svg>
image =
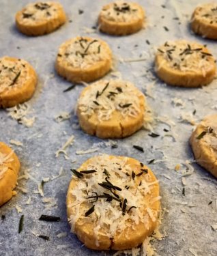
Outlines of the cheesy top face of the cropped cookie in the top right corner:
<svg viewBox="0 0 217 256">
<path fill-rule="evenodd" d="M 199 5 L 192 19 L 199 18 L 209 24 L 217 24 L 217 3 L 205 3 Z"/>
</svg>

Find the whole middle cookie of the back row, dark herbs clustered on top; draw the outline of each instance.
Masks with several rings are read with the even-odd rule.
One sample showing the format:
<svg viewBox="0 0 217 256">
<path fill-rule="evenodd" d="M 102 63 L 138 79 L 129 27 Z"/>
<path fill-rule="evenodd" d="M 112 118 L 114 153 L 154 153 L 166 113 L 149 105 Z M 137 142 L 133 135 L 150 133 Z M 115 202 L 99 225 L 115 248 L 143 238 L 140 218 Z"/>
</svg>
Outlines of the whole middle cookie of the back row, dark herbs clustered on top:
<svg viewBox="0 0 217 256">
<path fill-rule="evenodd" d="M 115 1 L 105 5 L 99 15 L 100 30 L 111 35 L 129 35 L 143 28 L 145 12 L 138 3 Z"/>
</svg>

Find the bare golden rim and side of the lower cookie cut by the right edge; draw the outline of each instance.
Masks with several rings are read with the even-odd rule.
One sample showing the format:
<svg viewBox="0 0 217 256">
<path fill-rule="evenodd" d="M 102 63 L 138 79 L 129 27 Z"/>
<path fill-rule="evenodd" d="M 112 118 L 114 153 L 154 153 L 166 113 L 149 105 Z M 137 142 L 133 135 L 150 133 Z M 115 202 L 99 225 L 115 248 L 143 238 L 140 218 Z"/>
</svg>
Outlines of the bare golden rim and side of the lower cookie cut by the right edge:
<svg viewBox="0 0 217 256">
<path fill-rule="evenodd" d="M 201 132 L 206 130 L 207 126 L 212 127 L 210 124 L 217 124 L 217 115 L 209 115 L 203 119 L 194 132 L 192 132 L 190 145 L 192 147 L 192 152 L 194 153 L 194 158 L 197 160 L 199 165 L 217 177 L 216 150 L 214 150 L 211 145 L 205 141 L 205 136 L 207 135 L 201 139 L 197 139 Z"/>
</svg>

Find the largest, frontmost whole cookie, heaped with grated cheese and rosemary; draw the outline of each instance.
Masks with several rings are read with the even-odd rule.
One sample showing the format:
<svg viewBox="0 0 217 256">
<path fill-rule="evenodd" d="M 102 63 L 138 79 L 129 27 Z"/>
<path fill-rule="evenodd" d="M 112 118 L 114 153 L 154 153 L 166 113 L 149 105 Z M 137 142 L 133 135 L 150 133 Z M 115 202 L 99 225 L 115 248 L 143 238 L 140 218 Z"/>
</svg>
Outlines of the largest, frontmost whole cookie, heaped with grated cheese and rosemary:
<svg viewBox="0 0 217 256">
<path fill-rule="evenodd" d="M 68 221 L 85 246 L 124 250 L 139 246 L 156 229 L 158 180 L 141 162 L 103 154 L 72 171 Z"/>
</svg>

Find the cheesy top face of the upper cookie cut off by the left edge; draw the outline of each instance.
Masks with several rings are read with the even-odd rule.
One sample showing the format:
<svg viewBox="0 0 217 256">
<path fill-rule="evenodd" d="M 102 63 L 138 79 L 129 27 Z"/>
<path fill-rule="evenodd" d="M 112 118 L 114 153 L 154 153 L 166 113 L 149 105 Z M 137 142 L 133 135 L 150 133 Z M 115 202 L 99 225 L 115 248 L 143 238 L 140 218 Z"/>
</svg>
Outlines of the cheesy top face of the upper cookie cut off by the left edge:
<svg viewBox="0 0 217 256">
<path fill-rule="evenodd" d="M 29 63 L 23 59 L 0 58 L 0 94 L 22 87 L 29 79 Z"/>
</svg>

